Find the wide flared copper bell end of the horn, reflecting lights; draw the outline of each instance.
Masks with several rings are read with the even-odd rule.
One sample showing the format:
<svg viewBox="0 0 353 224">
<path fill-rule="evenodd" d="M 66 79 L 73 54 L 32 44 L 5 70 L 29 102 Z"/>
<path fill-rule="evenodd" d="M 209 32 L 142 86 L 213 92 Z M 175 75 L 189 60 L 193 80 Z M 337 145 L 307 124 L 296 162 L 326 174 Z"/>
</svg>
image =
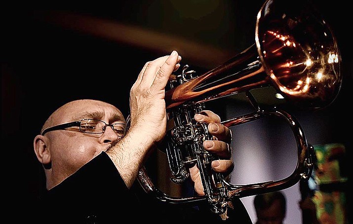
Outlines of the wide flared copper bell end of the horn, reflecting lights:
<svg viewBox="0 0 353 224">
<path fill-rule="evenodd" d="M 286 99 L 308 109 L 329 106 L 342 86 L 336 38 L 307 0 L 267 0 L 257 15 L 255 41 L 264 69 Z"/>
</svg>

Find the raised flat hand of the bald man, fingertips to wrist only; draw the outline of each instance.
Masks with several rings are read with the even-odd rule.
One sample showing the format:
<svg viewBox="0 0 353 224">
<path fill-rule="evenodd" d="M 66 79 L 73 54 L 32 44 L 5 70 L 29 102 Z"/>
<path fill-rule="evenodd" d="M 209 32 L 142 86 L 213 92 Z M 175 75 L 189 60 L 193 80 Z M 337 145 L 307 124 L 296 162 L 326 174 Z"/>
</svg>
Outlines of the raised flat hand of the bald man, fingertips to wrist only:
<svg viewBox="0 0 353 224">
<path fill-rule="evenodd" d="M 165 86 L 176 71 L 181 57 L 176 51 L 145 64 L 130 90 L 130 129 L 138 129 L 153 143 L 159 142 L 166 131 Z"/>
</svg>

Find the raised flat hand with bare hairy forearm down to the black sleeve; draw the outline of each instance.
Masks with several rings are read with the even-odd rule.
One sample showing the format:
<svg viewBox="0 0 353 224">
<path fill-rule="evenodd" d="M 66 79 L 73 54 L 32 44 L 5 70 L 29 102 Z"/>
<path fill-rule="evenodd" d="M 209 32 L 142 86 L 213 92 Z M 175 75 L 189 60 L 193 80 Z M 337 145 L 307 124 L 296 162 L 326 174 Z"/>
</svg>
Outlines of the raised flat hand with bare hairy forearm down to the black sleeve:
<svg viewBox="0 0 353 224">
<path fill-rule="evenodd" d="M 145 157 L 161 141 L 166 131 L 164 87 L 180 67 L 176 51 L 145 64 L 130 90 L 130 128 L 107 154 L 130 188 Z"/>
</svg>

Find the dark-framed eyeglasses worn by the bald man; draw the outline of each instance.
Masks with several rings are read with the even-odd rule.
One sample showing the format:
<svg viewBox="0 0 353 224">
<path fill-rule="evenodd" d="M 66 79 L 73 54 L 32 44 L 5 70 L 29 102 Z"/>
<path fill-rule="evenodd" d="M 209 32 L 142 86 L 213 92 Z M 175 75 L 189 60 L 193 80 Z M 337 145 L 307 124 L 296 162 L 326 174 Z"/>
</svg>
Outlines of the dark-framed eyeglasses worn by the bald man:
<svg viewBox="0 0 353 224">
<path fill-rule="evenodd" d="M 61 125 L 56 125 L 50 128 L 46 128 L 41 132 L 41 135 L 44 135 L 48 131 L 52 130 L 63 130 L 65 128 L 71 127 L 79 127 L 79 131 L 90 134 L 101 134 L 104 133 L 107 126 L 111 127 L 115 133 L 117 133 L 120 137 L 125 133 L 125 123 L 115 123 L 109 125 L 104 121 L 98 119 L 82 119 L 79 121 L 69 122 Z"/>
</svg>

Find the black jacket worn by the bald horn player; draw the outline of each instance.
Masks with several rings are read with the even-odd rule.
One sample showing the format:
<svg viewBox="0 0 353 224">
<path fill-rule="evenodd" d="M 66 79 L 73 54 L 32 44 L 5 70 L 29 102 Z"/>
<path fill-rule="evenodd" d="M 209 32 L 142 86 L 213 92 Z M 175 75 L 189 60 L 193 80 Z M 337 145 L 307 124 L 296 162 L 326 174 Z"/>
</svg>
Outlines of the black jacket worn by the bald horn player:
<svg viewBox="0 0 353 224">
<path fill-rule="evenodd" d="M 89 161 L 61 184 L 45 192 L 34 214 L 34 223 L 232 223 L 252 224 L 238 199 L 225 222 L 207 205 L 170 205 L 143 192 L 139 184 L 127 189 L 106 153 Z M 41 222 L 43 221 L 43 222 Z"/>
</svg>

